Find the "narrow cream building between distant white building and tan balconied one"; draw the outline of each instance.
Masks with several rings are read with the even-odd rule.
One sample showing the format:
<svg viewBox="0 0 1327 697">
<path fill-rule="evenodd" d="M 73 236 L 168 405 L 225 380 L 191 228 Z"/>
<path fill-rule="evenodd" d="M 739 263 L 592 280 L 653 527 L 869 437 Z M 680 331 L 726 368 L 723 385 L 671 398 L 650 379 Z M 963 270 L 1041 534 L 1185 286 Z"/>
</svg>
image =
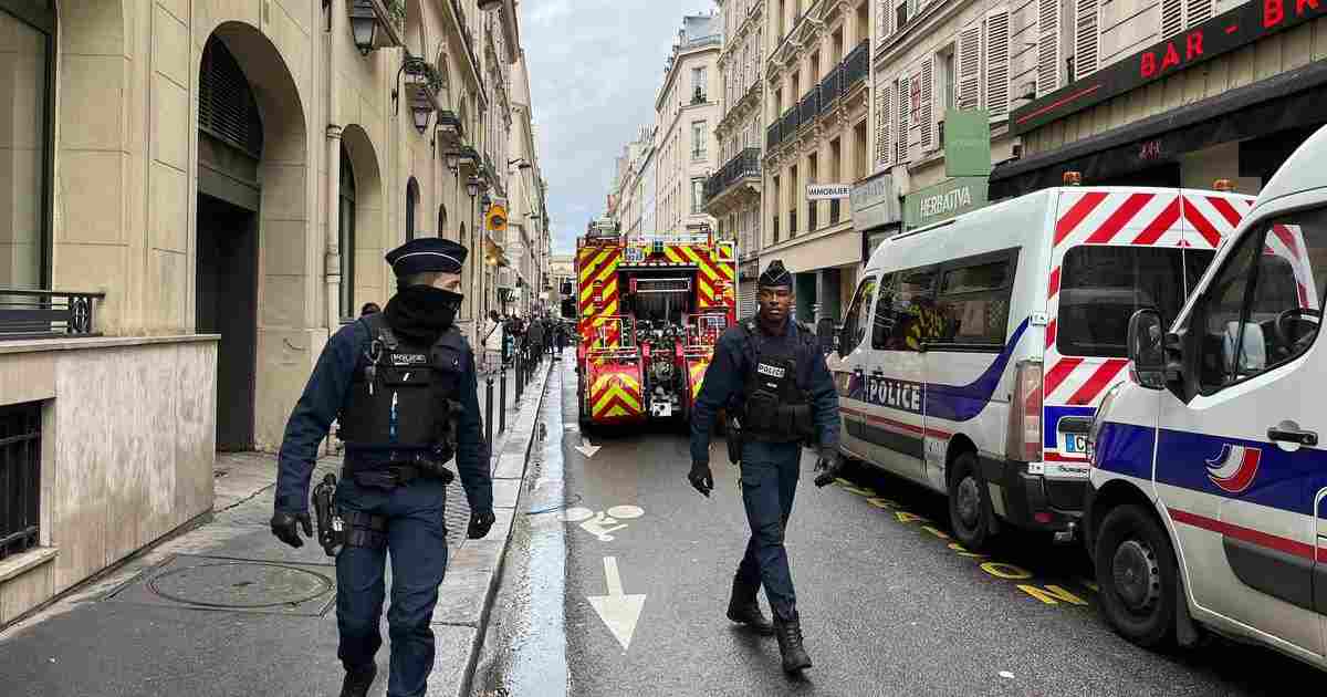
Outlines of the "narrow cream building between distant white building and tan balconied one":
<svg viewBox="0 0 1327 697">
<path fill-rule="evenodd" d="M 718 170 L 705 182 L 705 211 L 738 243 L 738 315 L 755 313 L 760 275 L 760 161 L 764 154 L 764 0 L 719 0 L 722 92 L 714 141 Z"/>
</svg>

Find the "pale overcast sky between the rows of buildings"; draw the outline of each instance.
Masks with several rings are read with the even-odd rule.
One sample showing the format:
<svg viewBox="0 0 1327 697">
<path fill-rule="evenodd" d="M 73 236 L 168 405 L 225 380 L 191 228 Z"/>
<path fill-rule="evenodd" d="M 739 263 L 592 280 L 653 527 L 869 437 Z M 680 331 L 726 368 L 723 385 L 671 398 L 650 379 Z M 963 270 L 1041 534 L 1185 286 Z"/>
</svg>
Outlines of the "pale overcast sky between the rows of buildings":
<svg viewBox="0 0 1327 697">
<path fill-rule="evenodd" d="M 617 155 L 654 123 L 682 16 L 711 9 L 711 0 L 520 0 L 553 254 L 573 252 L 604 214 Z"/>
</svg>

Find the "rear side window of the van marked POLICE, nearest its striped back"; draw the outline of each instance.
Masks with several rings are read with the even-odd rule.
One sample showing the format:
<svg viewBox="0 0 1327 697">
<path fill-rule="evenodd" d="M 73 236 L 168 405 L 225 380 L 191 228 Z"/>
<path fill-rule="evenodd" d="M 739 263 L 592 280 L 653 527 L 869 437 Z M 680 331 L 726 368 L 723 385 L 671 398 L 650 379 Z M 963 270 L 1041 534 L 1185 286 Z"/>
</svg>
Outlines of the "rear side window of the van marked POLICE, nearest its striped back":
<svg viewBox="0 0 1327 697">
<path fill-rule="evenodd" d="M 942 327 L 928 341 L 1003 347 L 1015 266 L 1016 255 L 1010 254 L 946 264 L 936 299 Z"/>
</svg>

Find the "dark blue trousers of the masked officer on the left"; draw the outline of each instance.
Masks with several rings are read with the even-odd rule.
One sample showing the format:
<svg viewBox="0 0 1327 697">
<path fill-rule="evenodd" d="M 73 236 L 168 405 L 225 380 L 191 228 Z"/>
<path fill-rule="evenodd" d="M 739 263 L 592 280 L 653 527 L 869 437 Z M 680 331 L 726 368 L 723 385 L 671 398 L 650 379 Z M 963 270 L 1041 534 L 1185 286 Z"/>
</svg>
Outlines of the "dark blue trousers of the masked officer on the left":
<svg viewBox="0 0 1327 697">
<path fill-rule="evenodd" d="M 345 478 L 336 493 L 341 511 L 357 510 L 387 516 L 386 550 L 342 547 L 336 560 L 336 616 L 341 633 L 337 656 L 346 670 L 373 662 L 382 645 L 385 556 L 391 554 L 391 607 L 387 633 L 391 637 L 390 697 L 425 693 L 433 670 L 433 608 L 438 584 L 447 570 L 447 531 L 442 514 L 446 486 L 417 479 L 393 490 L 357 485 Z"/>
</svg>

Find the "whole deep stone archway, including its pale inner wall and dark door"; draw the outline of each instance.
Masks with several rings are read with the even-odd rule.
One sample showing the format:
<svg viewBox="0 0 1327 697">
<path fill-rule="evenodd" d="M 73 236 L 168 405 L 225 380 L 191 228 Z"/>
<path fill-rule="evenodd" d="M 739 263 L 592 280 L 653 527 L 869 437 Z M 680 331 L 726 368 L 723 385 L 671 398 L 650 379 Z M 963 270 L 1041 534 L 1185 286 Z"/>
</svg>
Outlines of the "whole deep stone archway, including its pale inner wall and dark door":
<svg viewBox="0 0 1327 697">
<path fill-rule="evenodd" d="M 317 357 L 308 350 L 318 324 L 305 259 L 316 238 L 304 100 L 257 28 L 224 21 L 206 36 L 194 54 L 194 325 L 222 335 L 218 449 L 276 449 L 299 397 L 288 376 Z"/>
</svg>

